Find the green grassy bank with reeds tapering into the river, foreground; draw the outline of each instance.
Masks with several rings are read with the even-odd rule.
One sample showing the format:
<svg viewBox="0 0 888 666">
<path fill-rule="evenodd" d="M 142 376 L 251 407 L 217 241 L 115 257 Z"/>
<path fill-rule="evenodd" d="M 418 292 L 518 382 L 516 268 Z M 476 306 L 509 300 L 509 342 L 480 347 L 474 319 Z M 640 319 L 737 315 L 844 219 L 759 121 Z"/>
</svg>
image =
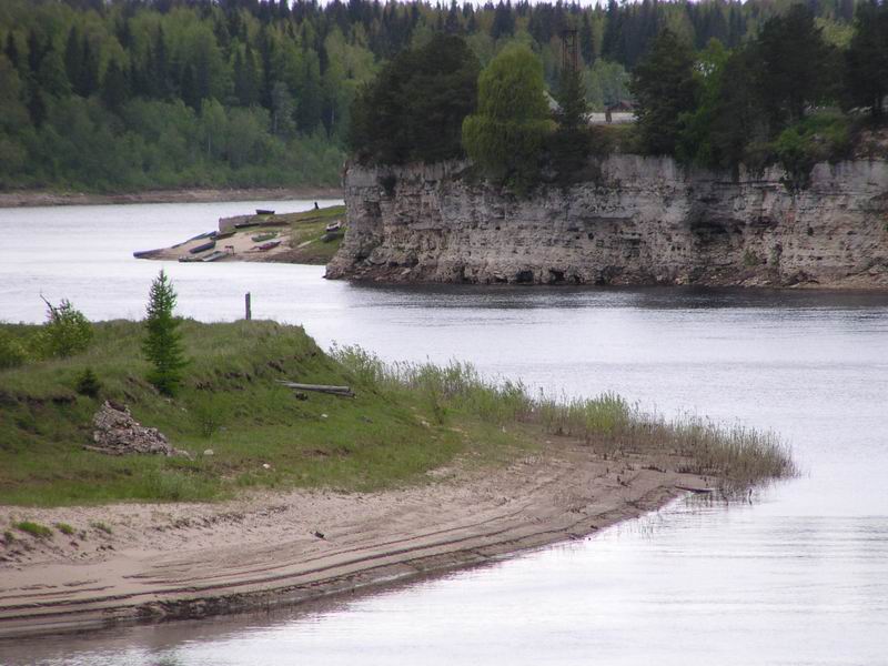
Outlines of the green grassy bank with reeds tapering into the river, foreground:
<svg viewBox="0 0 888 666">
<path fill-rule="evenodd" d="M 17 337 L 38 326 L 3 325 Z M 191 364 L 175 398 L 144 380 L 142 326 L 94 325 L 90 349 L 0 371 L 0 503 L 203 501 L 244 488 L 377 490 L 427 478 L 455 457 L 493 464 L 582 438 L 602 455 L 724 476 L 730 485 L 793 473 L 769 435 L 648 418 L 615 396 L 563 403 L 519 384 L 493 385 L 467 365 L 387 366 L 357 349 L 322 352 L 301 327 L 272 322 L 182 326 Z M 80 395 L 92 367 L 98 397 Z M 347 384 L 355 398 L 297 400 L 276 380 Z M 101 401 L 128 404 L 184 457 L 113 457 L 83 450 Z M 212 455 L 204 455 L 212 450 Z"/>
</svg>

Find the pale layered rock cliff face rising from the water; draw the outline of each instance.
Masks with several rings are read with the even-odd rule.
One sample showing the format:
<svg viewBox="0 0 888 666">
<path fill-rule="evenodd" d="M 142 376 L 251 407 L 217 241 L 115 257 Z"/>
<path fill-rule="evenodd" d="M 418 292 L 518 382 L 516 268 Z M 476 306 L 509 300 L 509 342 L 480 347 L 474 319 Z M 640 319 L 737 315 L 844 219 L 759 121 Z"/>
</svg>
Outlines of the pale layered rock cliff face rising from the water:
<svg viewBox="0 0 888 666">
<path fill-rule="evenodd" d="M 350 164 L 327 278 L 392 282 L 888 287 L 888 162 L 731 178 L 614 155 L 517 198 L 464 162 Z"/>
</svg>

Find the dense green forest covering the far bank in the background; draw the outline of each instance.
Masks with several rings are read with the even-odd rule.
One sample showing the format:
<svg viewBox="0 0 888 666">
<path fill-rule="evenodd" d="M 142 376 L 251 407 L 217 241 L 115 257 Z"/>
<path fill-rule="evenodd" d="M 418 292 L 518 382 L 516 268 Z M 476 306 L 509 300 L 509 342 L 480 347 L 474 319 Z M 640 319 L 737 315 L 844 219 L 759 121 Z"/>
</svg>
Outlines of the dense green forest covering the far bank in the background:
<svg viewBox="0 0 888 666">
<path fill-rule="evenodd" d="M 381 71 L 403 91 L 398 103 L 462 118 L 475 103 L 473 78 L 517 46 L 533 52 L 539 80 L 556 92 L 561 36 L 572 27 L 582 94 L 601 110 L 643 93 L 630 90 L 630 72 L 649 67 L 646 54 L 664 30 L 688 62 L 709 53 L 722 67 L 789 4 L 3 0 L 0 188 L 335 184 L 354 137 L 353 102 Z M 810 0 L 807 8 L 824 43 L 851 43 L 854 0 Z M 398 53 L 441 46 L 441 34 L 464 44 L 444 51 L 470 107 L 422 100 L 412 65 L 392 74 Z M 707 93 L 705 77 L 694 75 L 697 103 Z M 374 118 L 355 109 L 356 129 L 375 131 Z"/>
</svg>

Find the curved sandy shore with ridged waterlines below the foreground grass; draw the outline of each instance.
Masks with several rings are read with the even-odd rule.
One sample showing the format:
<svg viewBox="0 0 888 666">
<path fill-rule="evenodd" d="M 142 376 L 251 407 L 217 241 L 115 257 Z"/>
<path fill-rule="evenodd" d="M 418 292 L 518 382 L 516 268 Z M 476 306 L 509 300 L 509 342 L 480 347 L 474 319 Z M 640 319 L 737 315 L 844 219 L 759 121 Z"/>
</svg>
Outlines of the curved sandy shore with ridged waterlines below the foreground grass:
<svg viewBox="0 0 888 666">
<path fill-rule="evenodd" d="M 430 472 L 427 484 L 380 493 L 0 506 L 7 523 L 93 526 L 21 536 L 31 549 L 0 558 L 0 639 L 243 613 L 407 582 L 582 538 L 709 486 L 663 472 L 660 462 L 603 457 L 554 437 L 542 454 L 502 468 L 457 464 Z"/>
</svg>

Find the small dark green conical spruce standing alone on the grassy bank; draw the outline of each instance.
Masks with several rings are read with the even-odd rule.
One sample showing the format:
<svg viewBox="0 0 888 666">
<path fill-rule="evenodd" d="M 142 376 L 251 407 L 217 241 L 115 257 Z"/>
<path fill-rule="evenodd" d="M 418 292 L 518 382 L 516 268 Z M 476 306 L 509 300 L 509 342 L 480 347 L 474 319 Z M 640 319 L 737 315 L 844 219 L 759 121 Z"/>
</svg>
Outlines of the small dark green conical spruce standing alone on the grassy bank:
<svg viewBox="0 0 888 666">
<path fill-rule="evenodd" d="M 172 282 L 161 270 L 149 292 L 142 352 L 154 365 L 148 374 L 148 381 L 164 395 L 175 395 L 188 364 L 182 349 L 182 334 L 178 330 L 180 320 L 173 315 L 175 300 Z"/>
</svg>

